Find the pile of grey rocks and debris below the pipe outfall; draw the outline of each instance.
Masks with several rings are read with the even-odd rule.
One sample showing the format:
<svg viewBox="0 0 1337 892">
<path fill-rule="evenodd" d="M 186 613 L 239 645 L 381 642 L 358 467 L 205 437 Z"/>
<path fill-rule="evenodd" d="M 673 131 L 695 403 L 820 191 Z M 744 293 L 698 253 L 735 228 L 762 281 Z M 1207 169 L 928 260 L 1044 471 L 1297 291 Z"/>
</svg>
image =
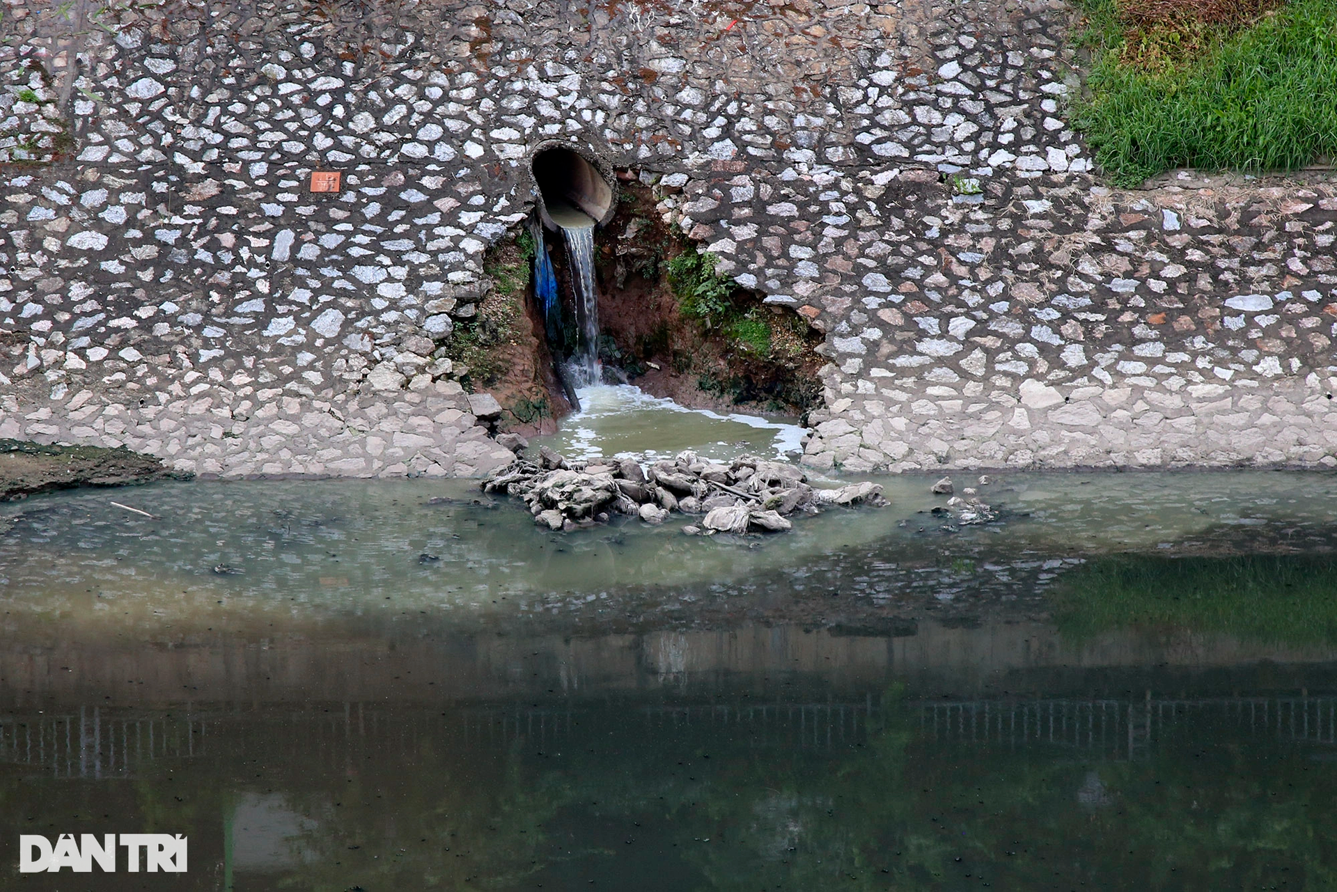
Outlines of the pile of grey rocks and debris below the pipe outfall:
<svg viewBox="0 0 1337 892">
<path fill-rule="evenodd" d="M 801 468 L 785 461 L 741 456 L 729 464 L 682 452 L 648 467 L 634 459 L 568 460 L 539 448 L 537 461 L 517 459 L 483 481 L 484 492 L 519 496 L 535 523 L 552 530 L 576 530 L 607 523 L 614 514 L 663 523 L 674 511 L 703 515 L 687 534 L 779 532 L 792 527 L 786 515 L 816 514 L 829 506 L 884 506 L 882 488 L 856 483 L 818 489 Z"/>
</svg>

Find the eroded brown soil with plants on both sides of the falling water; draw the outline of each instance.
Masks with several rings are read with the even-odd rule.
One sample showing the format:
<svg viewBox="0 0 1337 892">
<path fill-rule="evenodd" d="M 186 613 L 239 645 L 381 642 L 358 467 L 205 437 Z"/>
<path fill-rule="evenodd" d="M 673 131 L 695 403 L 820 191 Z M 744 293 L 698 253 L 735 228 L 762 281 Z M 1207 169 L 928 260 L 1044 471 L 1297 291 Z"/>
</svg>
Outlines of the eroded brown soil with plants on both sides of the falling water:
<svg viewBox="0 0 1337 892">
<path fill-rule="evenodd" d="M 582 159 L 583 160 L 583 159 Z M 714 271 L 713 258 L 667 226 L 651 190 L 619 178 L 616 213 L 595 235 L 599 356 L 652 396 L 690 408 L 806 415 L 821 403 L 822 334 L 789 308 Z M 547 250 L 560 320 L 548 341 L 533 293 L 533 251 Z M 468 368 L 471 391 L 503 405 L 503 429 L 550 432 L 571 411 L 555 361 L 578 348 L 571 269 L 562 239 L 508 233 L 487 255 L 491 290 L 473 318 L 439 338 L 439 356 Z"/>
</svg>

